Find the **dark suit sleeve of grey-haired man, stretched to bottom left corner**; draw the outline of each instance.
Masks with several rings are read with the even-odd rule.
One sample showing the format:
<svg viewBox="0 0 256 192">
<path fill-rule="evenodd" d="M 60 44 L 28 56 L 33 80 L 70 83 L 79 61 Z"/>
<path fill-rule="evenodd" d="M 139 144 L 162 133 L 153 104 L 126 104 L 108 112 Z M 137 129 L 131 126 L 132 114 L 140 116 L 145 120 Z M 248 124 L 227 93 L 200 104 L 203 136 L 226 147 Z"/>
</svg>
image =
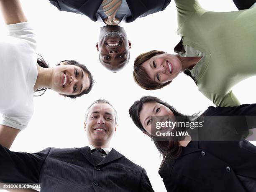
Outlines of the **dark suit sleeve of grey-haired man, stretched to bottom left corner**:
<svg viewBox="0 0 256 192">
<path fill-rule="evenodd" d="M 0 145 L 0 182 L 38 183 L 50 147 L 37 153 L 11 152 Z"/>
</svg>

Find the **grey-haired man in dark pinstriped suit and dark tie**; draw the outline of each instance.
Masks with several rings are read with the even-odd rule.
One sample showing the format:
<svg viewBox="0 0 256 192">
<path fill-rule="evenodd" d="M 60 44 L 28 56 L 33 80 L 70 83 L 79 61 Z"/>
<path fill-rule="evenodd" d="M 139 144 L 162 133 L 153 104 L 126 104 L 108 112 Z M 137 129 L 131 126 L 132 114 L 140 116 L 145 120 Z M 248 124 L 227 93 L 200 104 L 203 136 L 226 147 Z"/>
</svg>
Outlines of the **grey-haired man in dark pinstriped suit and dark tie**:
<svg viewBox="0 0 256 192">
<path fill-rule="evenodd" d="M 115 109 L 100 99 L 86 112 L 87 147 L 29 154 L 0 145 L 0 182 L 41 183 L 41 192 L 154 192 L 146 171 L 110 148 L 116 128 Z"/>
</svg>

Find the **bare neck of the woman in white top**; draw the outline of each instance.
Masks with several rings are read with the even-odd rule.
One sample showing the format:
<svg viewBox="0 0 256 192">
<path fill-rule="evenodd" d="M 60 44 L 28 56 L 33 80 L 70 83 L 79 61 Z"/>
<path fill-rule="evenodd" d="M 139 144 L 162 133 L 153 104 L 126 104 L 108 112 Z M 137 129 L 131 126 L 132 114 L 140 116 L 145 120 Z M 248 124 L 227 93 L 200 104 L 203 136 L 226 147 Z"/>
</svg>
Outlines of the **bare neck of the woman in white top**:
<svg viewBox="0 0 256 192">
<path fill-rule="evenodd" d="M 37 78 L 34 91 L 40 88 L 51 88 L 52 68 L 43 68 L 37 64 Z"/>
</svg>

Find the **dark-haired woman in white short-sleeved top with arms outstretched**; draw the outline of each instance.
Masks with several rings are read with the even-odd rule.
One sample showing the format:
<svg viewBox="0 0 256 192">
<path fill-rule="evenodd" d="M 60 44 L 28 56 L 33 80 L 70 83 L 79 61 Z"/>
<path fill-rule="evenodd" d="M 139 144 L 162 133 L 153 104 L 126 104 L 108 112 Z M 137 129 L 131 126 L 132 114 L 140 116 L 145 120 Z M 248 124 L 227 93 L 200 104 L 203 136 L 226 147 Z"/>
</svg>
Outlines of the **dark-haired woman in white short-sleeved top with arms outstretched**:
<svg viewBox="0 0 256 192">
<path fill-rule="evenodd" d="M 10 148 L 33 115 L 35 91 L 50 88 L 75 98 L 88 93 L 93 80 L 90 71 L 74 60 L 49 68 L 37 58 L 35 34 L 19 0 L 0 0 L 0 9 L 9 31 L 0 41 L 0 144 Z"/>
</svg>

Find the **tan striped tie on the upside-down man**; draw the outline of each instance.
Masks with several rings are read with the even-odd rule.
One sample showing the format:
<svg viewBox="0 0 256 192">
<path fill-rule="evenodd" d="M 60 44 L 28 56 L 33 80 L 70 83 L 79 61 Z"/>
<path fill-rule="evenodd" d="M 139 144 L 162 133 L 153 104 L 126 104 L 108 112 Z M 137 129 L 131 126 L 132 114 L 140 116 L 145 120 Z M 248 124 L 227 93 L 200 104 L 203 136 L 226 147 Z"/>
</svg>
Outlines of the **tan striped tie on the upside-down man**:
<svg viewBox="0 0 256 192">
<path fill-rule="evenodd" d="M 115 18 L 115 14 L 122 4 L 122 0 L 103 0 L 101 5 L 104 13 L 108 16 L 104 22 L 108 25 L 118 25 L 120 20 Z"/>
</svg>

